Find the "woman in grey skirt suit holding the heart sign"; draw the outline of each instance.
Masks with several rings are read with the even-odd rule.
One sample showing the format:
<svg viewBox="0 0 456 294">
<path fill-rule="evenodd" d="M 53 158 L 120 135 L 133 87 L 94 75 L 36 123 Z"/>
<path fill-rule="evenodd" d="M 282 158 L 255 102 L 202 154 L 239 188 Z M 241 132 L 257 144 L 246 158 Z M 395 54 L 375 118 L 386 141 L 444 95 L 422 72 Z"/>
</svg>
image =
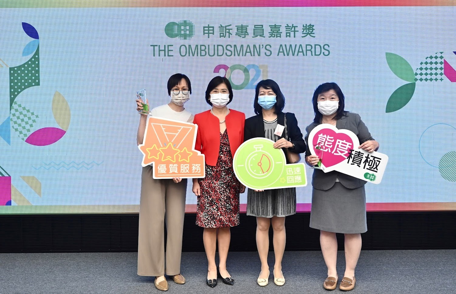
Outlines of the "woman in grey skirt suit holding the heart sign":
<svg viewBox="0 0 456 294">
<path fill-rule="evenodd" d="M 306 142 L 309 133 L 321 123 L 329 123 L 338 129 L 354 132 L 361 143 L 360 148 L 368 152 L 378 149 L 361 117 L 344 111 L 344 95 L 336 83 L 318 86 L 312 97 L 315 118 L 306 127 Z M 307 146 L 306 162 L 315 166 L 319 159 L 311 155 Z M 366 182 L 346 174 L 314 169 L 312 176 L 312 208 L 310 227 L 320 230 L 320 246 L 328 268 L 328 277 L 323 287 L 334 290 L 337 287 L 337 238 L 336 233 L 345 236 L 345 273 L 339 289 L 352 290 L 355 287 L 355 267 L 361 252 L 361 233 L 367 231 L 366 224 Z"/>
</svg>

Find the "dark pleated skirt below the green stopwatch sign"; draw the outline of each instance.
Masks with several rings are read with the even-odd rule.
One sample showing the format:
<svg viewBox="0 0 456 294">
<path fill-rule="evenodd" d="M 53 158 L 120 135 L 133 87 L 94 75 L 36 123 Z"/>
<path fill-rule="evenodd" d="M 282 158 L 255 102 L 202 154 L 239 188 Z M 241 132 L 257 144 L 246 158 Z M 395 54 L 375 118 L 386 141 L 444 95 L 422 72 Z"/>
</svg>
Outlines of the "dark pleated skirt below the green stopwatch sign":
<svg viewBox="0 0 456 294">
<path fill-rule="evenodd" d="M 296 188 L 247 191 L 247 215 L 260 218 L 286 217 L 296 213 Z"/>
</svg>

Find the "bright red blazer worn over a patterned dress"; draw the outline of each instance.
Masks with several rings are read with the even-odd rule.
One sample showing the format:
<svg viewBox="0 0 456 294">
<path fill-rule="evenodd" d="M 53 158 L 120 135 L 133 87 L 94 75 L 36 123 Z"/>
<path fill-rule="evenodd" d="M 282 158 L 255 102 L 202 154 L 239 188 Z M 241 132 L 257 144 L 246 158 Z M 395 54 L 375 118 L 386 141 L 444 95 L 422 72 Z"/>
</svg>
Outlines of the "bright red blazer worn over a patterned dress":
<svg viewBox="0 0 456 294">
<path fill-rule="evenodd" d="M 231 155 L 244 142 L 245 114 L 230 109 L 225 119 Z M 210 110 L 195 115 L 193 123 L 198 126 L 195 149 L 206 157 L 206 164 L 217 165 L 220 152 L 220 121 Z"/>
</svg>

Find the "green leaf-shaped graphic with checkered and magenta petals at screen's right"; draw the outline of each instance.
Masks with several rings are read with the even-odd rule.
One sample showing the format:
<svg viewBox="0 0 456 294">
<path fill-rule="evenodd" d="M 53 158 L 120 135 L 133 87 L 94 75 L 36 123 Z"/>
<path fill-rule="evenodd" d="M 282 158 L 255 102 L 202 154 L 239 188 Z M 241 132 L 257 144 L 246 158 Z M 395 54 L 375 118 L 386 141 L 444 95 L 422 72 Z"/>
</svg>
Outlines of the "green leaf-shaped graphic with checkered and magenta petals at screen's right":
<svg viewBox="0 0 456 294">
<path fill-rule="evenodd" d="M 451 57 L 456 51 L 450 53 Z M 420 62 L 415 72 L 412 66 L 403 57 L 386 52 L 386 61 L 393 73 L 408 84 L 400 86 L 389 96 L 385 112 L 395 112 L 407 105 L 415 93 L 417 82 L 443 82 L 447 79 L 456 82 L 456 71 L 444 57 L 444 52 L 435 52 Z M 450 57 L 450 56 L 447 56 Z M 444 78 L 446 77 L 446 79 Z"/>
</svg>

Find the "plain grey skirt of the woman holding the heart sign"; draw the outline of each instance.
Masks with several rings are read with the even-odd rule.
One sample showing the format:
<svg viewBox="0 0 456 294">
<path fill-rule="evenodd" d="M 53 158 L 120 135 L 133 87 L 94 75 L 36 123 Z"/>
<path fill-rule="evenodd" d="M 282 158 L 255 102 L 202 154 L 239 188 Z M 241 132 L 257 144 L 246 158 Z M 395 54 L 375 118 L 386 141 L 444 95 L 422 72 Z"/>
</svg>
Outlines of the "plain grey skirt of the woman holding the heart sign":
<svg viewBox="0 0 456 294">
<path fill-rule="evenodd" d="M 364 186 L 348 189 L 336 182 L 326 191 L 313 188 L 310 227 L 334 233 L 365 233 L 368 227 Z"/>
</svg>

